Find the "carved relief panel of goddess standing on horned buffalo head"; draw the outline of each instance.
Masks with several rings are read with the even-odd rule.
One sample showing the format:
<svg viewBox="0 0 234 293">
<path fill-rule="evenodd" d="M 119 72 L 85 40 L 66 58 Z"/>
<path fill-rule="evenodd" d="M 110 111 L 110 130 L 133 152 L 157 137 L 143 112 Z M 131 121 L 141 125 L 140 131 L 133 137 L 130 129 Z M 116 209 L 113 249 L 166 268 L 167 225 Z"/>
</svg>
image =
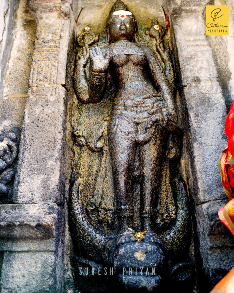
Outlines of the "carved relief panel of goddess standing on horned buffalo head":
<svg viewBox="0 0 234 293">
<path fill-rule="evenodd" d="M 150 21 L 138 28 L 118 0 L 100 34 L 87 24 L 77 40 L 69 213 L 82 292 L 196 288 L 170 33 Z"/>
</svg>

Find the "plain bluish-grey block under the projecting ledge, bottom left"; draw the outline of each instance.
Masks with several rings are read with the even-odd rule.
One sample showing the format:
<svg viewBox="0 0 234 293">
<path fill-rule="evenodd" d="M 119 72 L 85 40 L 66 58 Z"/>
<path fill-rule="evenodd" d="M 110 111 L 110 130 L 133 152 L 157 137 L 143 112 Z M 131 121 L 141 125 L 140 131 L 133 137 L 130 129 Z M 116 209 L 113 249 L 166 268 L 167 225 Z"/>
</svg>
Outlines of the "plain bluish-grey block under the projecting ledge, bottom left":
<svg viewBox="0 0 234 293">
<path fill-rule="evenodd" d="M 53 252 L 4 253 L 1 292 L 62 293 L 62 280 L 57 275 Z"/>
</svg>

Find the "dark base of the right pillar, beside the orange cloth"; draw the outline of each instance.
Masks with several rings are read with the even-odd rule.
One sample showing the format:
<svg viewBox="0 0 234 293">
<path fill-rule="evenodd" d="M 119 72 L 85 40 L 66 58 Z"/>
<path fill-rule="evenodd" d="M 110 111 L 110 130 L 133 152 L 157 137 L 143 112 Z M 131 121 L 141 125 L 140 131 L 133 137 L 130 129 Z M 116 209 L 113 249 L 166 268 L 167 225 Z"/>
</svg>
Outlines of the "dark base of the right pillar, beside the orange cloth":
<svg viewBox="0 0 234 293">
<path fill-rule="evenodd" d="M 218 283 L 234 264 L 233 236 L 218 218 L 218 209 L 227 202 L 228 200 L 210 201 L 195 208 L 199 253 L 210 287 Z M 209 290 L 207 281 L 202 278 L 199 281 Z"/>
</svg>

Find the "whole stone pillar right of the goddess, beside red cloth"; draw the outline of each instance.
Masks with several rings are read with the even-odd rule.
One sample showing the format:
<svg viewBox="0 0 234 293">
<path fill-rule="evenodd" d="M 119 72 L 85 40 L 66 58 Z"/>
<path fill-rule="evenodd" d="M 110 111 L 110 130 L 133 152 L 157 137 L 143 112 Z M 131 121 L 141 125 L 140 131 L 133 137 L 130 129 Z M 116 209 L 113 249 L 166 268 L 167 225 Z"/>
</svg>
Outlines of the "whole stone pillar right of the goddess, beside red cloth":
<svg viewBox="0 0 234 293">
<path fill-rule="evenodd" d="M 185 122 L 184 166 L 197 223 L 198 246 L 207 278 L 215 285 L 233 267 L 234 241 L 218 219 L 226 204 L 218 157 L 226 147 L 226 106 L 212 49 L 205 35 L 206 1 L 171 1 L 171 28 L 180 72 L 181 113 Z"/>
</svg>

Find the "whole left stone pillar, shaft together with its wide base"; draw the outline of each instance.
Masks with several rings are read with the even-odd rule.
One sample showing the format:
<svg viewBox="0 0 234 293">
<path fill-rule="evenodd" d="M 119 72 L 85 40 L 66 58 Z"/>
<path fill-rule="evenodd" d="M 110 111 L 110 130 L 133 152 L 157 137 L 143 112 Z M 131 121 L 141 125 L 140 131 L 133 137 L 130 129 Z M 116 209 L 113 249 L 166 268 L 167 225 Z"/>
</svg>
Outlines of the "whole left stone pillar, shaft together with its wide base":
<svg viewBox="0 0 234 293">
<path fill-rule="evenodd" d="M 41 2 L 30 2 L 38 23 L 13 204 L 0 206 L 1 292 L 64 292 L 66 107 L 75 21 L 69 3 Z"/>
</svg>

